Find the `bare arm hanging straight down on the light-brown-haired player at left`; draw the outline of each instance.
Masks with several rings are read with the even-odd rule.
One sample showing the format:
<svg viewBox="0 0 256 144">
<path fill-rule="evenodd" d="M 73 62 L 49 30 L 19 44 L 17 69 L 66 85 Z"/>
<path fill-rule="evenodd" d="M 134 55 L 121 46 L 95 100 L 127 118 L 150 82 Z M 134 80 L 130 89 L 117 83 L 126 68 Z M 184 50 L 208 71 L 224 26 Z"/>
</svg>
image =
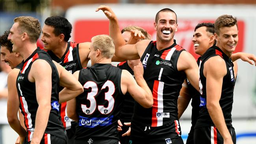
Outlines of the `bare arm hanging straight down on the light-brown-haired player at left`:
<svg viewBox="0 0 256 144">
<path fill-rule="evenodd" d="M 35 83 L 38 103 L 31 144 L 39 144 L 48 124 L 51 110 L 52 68 L 50 64 L 43 59 L 35 60 L 28 74 L 28 80 Z"/>
</svg>

